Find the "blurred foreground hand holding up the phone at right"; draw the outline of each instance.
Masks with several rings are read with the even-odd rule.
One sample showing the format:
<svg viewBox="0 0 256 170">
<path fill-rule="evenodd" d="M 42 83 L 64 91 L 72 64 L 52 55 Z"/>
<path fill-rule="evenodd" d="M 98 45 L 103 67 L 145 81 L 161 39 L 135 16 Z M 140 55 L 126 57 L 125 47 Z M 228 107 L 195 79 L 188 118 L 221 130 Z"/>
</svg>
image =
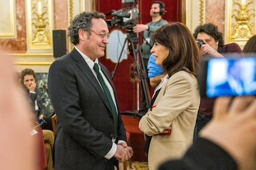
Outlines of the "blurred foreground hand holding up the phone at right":
<svg viewBox="0 0 256 170">
<path fill-rule="evenodd" d="M 215 102 L 213 119 L 199 135 L 224 148 L 236 160 L 239 169 L 256 169 L 255 110 L 254 96 L 233 100 L 220 97 Z"/>
</svg>

